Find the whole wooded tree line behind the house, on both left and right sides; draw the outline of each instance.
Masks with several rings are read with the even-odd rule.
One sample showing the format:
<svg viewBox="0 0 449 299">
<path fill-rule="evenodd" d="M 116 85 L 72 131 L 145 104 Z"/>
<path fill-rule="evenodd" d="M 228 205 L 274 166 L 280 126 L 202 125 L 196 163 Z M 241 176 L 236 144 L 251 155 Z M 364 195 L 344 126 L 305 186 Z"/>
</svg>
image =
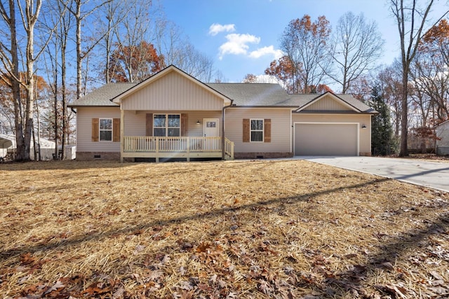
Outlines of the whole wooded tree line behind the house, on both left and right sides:
<svg viewBox="0 0 449 299">
<path fill-rule="evenodd" d="M 408 155 L 412 129 L 425 147 L 431 127 L 449 116 L 448 12 L 429 18 L 434 1 L 389 0 L 401 46 L 390 66 L 377 64 L 383 41 L 375 22 L 349 12 L 334 27 L 325 16 L 288 22 L 285 55 L 265 73 L 288 92 L 336 84 L 365 101 L 382 98 L 400 155 Z M 100 84 L 142 81 L 169 64 L 204 82 L 222 78 L 152 1 L 0 0 L 0 15 L 0 130 L 15 134 L 16 160 L 29 160 L 40 136 L 64 149 L 73 135 L 67 104 Z"/>
</svg>

